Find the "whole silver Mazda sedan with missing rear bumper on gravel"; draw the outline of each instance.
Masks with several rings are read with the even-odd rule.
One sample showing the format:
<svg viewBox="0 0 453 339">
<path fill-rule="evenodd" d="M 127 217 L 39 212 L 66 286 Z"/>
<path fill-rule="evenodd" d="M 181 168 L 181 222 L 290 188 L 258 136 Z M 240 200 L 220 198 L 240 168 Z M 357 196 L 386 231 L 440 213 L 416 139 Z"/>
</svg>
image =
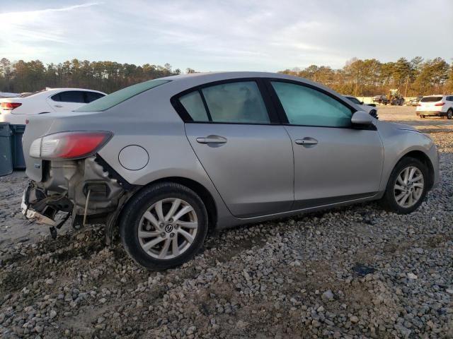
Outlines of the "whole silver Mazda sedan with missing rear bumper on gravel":
<svg viewBox="0 0 453 339">
<path fill-rule="evenodd" d="M 70 216 L 103 223 L 107 242 L 119 227 L 127 253 L 155 270 L 193 258 L 208 228 L 377 199 L 411 213 L 439 179 L 428 136 L 276 73 L 132 85 L 31 117 L 23 148 L 27 218 L 54 233 Z"/>
</svg>

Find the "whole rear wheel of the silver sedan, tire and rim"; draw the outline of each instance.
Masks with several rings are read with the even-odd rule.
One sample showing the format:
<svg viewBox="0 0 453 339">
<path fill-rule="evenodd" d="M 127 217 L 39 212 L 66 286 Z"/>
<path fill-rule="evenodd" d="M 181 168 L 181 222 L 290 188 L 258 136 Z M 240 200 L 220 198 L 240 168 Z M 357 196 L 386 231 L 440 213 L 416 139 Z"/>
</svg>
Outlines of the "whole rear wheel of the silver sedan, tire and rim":
<svg viewBox="0 0 453 339">
<path fill-rule="evenodd" d="M 207 234 L 207 211 L 197 194 L 176 183 L 139 191 L 125 206 L 120 236 L 127 254 L 149 270 L 189 261 Z"/>
</svg>

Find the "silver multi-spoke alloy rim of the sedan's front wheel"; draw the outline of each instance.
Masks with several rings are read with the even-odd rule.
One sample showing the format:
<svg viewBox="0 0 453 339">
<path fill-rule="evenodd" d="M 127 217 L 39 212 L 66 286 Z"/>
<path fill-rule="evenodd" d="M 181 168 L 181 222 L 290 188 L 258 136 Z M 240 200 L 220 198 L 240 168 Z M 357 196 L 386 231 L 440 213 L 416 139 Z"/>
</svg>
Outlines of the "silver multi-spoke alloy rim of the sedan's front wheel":
<svg viewBox="0 0 453 339">
<path fill-rule="evenodd" d="M 423 173 L 415 166 L 404 168 L 396 177 L 394 196 L 396 203 L 403 208 L 410 208 L 420 200 L 425 186 Z"/>
</svg>

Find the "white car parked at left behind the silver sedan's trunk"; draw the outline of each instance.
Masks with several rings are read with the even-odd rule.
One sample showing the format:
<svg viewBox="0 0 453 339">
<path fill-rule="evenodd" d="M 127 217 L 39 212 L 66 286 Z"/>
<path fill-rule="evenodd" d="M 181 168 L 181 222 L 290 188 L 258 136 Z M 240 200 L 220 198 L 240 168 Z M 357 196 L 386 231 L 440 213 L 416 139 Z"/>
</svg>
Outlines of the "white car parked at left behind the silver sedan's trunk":
<svg viewBox="0 0 453 339">
<path fill-rule="evenodd" d="M 71 112 L 105 93 L 81 88 L 51 88 L 20 97 L 0 99 L 0 122 L 25 124 L 29 115 Z"/>
</svg>

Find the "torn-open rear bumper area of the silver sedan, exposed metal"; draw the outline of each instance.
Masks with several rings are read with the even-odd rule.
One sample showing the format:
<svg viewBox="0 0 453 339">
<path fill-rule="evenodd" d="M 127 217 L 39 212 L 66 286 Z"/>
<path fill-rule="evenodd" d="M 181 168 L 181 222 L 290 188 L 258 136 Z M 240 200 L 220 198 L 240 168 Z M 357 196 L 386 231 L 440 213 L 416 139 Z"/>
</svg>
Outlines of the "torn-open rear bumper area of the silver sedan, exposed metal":
<svg viewBox="0 0 453 339">
<path fill-rule="evenodd" d="M 108 242 L 113 223 L 134 186 L 122 181 L 102 158 L 48 162 L 42 182 L 30 181 L 22 196 L 21 210 L 31 222 L 55 228 L 72 217 L 76 229 L 104 224 Z M 55 220 L 57 213 L 67 213 Z M 52 231 L 53 229 L 53 231 Z"/>
</svg>

